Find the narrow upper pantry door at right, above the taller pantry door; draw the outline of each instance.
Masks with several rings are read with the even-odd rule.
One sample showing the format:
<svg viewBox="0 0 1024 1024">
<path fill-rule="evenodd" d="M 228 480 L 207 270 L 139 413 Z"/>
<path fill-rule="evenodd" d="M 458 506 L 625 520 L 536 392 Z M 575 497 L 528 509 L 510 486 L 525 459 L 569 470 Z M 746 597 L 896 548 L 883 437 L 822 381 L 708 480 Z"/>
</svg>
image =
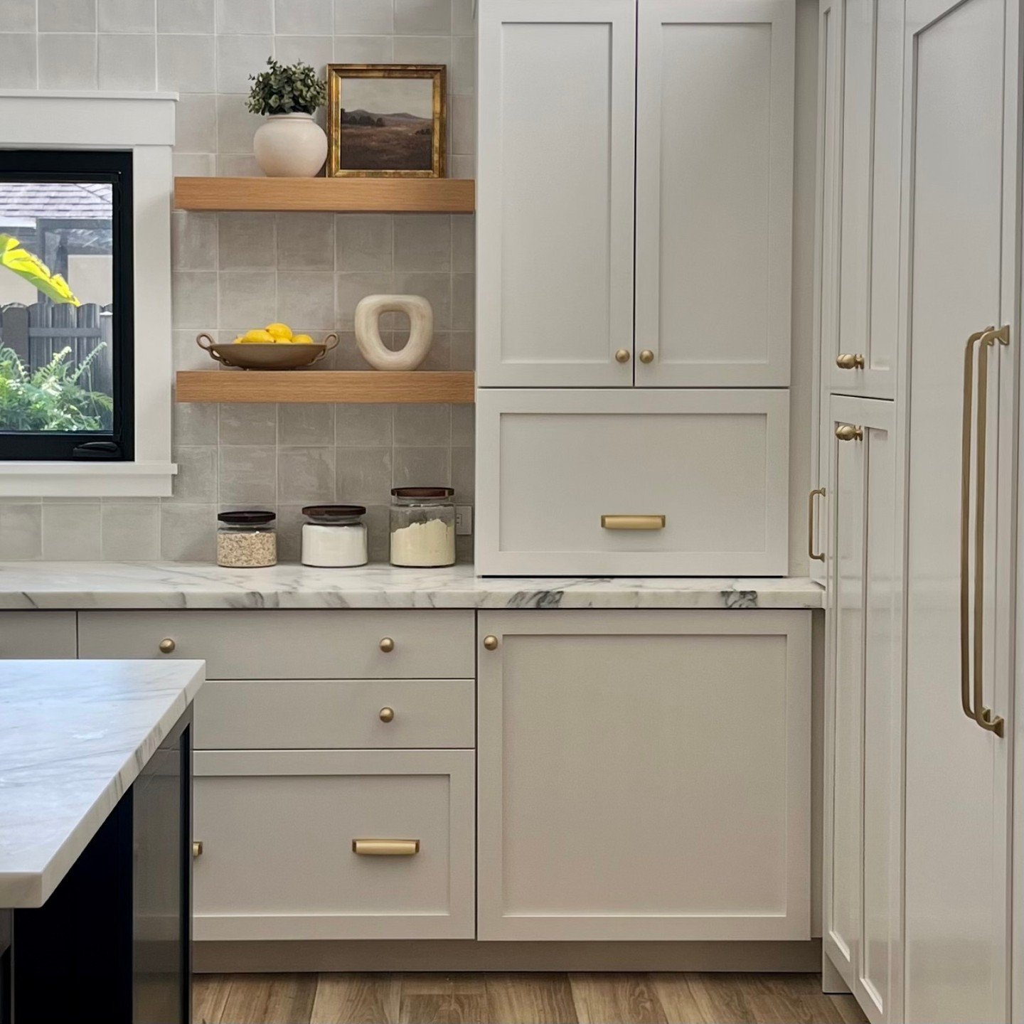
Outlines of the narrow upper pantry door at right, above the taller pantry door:
<svg viewBox="0 0 1024 1024">
<path fill-rule="evenodd" d="M 903 0 L 845 0 L 833 392 L 892 398 L 899 315 Z"/>
</svg>

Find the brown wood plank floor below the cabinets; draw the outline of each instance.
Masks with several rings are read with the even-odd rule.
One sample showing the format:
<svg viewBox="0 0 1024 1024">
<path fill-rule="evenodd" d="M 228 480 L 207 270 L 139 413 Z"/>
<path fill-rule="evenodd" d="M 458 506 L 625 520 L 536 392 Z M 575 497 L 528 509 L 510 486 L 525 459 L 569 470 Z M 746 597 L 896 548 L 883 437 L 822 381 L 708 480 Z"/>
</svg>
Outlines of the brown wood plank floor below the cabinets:
<svg viewBox="0 0 1024 1024">
<path fill-rule="evenodd" d="M 195 1024 L 866 1024 L 816 974 L 197 975 Z"/>
</svg>

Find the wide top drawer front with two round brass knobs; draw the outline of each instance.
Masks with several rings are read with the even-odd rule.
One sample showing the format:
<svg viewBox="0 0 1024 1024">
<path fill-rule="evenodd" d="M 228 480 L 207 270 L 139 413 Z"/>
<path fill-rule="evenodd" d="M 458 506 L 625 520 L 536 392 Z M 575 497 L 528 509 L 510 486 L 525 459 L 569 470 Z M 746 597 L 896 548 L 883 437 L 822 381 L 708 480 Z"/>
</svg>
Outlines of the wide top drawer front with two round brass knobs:
<svg viewBox="0 0 1024 1024">
<path fill-rule="evenodd" d="M 472 611 L 87 611 L 82 657 L 205 658 L 208 679 L 473 675 Z M 173 642 L 162 652 L 161 643 Z M 391 640 L 393 646 L 382 641 Z"/>
</svg>

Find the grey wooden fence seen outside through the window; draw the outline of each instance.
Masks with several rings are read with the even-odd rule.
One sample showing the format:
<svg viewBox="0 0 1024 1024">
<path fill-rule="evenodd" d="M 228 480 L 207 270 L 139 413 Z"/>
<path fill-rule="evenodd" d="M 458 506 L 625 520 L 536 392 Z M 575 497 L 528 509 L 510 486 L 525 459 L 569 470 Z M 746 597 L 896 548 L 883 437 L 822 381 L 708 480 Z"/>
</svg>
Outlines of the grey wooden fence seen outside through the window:
<svg viewBox="0 0 1024 1024">
<path fill-rule="evenodd" d="M 69 362 L 81 366 L 89 353 L 105 342 L 92 360 L 81 384 L 111 394 L 114 387 L 113 324 L 111 306 L 94 302 L 81 306 L 36 302 L 0 306 L 0 345 L 17 353 L 29 371 L 46 366 L 62 348 L 70 348 Z"/>
</svg>

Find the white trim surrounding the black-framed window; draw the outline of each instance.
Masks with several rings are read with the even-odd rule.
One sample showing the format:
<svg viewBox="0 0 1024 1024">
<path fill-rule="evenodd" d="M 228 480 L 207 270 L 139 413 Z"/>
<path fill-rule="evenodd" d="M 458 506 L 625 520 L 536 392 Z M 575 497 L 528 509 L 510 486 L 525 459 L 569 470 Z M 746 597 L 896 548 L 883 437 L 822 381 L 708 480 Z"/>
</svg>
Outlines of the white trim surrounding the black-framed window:
<svg viewBox="0 0 1024 1024">
<path fill-rule="evenodd" d="M 0 91 L 4 150 L 132 151 L 133 462 L 0 462 L 0 498 L 168 498 L 173 92 Z"/>
</svg>

